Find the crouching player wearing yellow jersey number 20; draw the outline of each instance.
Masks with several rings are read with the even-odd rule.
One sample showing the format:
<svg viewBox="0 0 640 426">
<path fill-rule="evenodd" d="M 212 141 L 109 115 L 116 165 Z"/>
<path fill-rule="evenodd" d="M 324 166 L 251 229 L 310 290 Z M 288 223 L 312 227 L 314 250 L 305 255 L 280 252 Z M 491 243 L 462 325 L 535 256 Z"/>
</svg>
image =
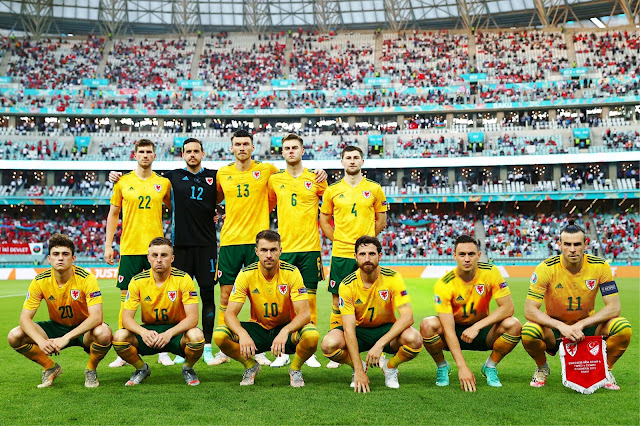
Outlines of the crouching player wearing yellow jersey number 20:
<svg viewBox="0 0 640 426">
<path fill-rule="evenodd" d="M 111 347 L 111 329 L 102 322 L 98 281 L 86 269 L 73 265 L 74 252 L 73 241 L 66 235 L 51 237 L 47 256 L 51 269 L 31 281 L 20 325 L 9 332 L 9 345 L 44 369 L 39 388 L 51 386 L 62 374 L 62 368 L 49 355 L 58 355 L 70 346 L 80 346 L 89 353 L 84 385 L 98 387 L 96 368 Z M 43 299 L 50 320 L 34 322 Z"/>
</svg>

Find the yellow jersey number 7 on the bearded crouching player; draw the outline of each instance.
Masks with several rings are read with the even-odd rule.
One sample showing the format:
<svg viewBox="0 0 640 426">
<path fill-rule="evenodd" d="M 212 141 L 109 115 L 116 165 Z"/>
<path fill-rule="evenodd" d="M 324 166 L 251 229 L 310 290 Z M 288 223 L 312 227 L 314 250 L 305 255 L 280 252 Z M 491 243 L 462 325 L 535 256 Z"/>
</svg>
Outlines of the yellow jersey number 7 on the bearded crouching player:
<svg viewBox="0 0 640 426">
<path fill-rule="evenodd" d="M 347 275 L 340 284 L 338 307 L 341 315 L 355 315 L 357 327 L 377 327 L 396 321 L 398 306 L 411 303 L 402 275 L 380 268 L 380 275 L 364 288 L 360 269 Z"/>
</svg>

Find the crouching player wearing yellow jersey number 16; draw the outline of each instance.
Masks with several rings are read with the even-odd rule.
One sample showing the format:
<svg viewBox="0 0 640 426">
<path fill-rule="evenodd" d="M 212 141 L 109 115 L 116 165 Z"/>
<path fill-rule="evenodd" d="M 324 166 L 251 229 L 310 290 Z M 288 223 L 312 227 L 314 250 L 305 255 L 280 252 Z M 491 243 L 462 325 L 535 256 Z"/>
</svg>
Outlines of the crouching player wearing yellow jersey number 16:
<svg viewBox="0 0 640 426">
<path fill-rule="evenodd" d="M 118 355 L 136 368 L 125 386 L 151 375 L 140 355 L 171 352 L 185 358 L 182 375 L 190 386 L 200 384 L 193 365 L 202 356 L 204 334 L 198 325 L 198 293 L 191 277 L 176 268 L 171 241 L 158 237 L 149 243 L 150 271 L 133 277 L 123 306 L 124 328 L 113 336 Z M 133 318 L 141 306 L 142 325 Z"/>
</svg>

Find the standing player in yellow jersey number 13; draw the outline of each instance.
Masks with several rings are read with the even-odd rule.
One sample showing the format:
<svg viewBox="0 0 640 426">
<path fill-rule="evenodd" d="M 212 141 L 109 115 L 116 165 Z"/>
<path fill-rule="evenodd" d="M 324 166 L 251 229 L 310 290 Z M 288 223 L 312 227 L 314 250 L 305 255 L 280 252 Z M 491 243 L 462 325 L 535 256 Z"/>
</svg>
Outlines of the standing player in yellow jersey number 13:
<svg viewBox="0 0 640 426">
<path fill-rule="evenodd" d="M 221 167 L 216 175 L 218 203 L 225 200 L 226 218 L 220 232 L 220 251 L 216 277 L 220 283 L 220 312 L 218 325 L 224 325 L 231 287 L 243 266 L 258 261 L 255 252 L 255 236 L 269 229 L 269 203 L 267 184 L 269 177 L 278 171 L 272 164 L 253 161 L 255 146 L 253 136 L 246 130 L 238 130 L 231 137 L 231 152 L 236 161 Z M 317 170 L 319 180 L 326 180 L 326 173 Z M 256 356 L 262 365 L 271 361 L 264 354 Z M 216 354 L 210 365 L 229 362 L 222 351 Z"/>
</svg>

